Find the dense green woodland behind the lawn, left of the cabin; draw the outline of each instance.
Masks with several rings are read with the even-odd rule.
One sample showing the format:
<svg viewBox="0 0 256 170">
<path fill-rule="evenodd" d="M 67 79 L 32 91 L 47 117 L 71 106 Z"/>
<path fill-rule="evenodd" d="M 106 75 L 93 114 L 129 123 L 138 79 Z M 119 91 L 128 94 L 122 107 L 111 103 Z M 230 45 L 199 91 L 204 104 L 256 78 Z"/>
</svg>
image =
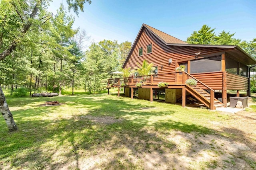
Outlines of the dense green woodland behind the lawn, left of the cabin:
<svg viewBox="0 0 256 170">
<path fill-rule="evenodd" d="M 4 22 L 1 53 L 19 36 L 17 28 L 23 24 L 24 9 L 29 5 L 25 1 L 21 4 L 8 2 L 1 2 L 1 9 L 7 8 L 11 14 L 7 16 L 4 10 L 1 13 Z M 46 9 L 41 10 L 38 17 L 42 15 L 44 19 L 39 20 L 44 20 L 44 23 L 34 20 L 33 30 L 28 29 L 30 31 L 20 37 L 15 49 L 12 47 L 11 53 L 2 59 L 2 87 L 10 90 L 10 95 L 19 88 L 28 89 L 30 95 L 42 91 L 61 95 L 63 88 L 72 88 L 73 92 L 74 88 L 84 88 L 89 93 L 103 90 L 108 74 L 120 69 L 131 43 L 103 40 L 92 43 L 84 52 L 84 42 L 89 37 L 86 31 L 73 28 L 74 17 L 67 15 L 62 4 L 55 16 L 48 14 Z M 19 16 L 23 12 L 25 16 Z"/>
</svg>

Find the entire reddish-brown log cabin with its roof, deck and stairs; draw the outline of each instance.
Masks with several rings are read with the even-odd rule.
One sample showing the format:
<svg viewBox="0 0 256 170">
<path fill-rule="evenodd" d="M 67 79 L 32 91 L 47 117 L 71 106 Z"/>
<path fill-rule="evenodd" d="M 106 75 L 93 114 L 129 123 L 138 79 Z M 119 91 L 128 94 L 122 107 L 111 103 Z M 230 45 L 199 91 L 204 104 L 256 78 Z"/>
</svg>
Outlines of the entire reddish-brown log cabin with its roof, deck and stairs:
<svg viewBox="0 0 256 170">
<path fill-rule="evenodd" d="M 144 60 L 154 63 L 154 74 L 108 80 L 108 84 L 118 87 L 118 96 L 121 83 L 125 83 L 125 96 L 131 98 L 150 102 L 162 98 L 170 103 L 180 98 L 185 107 L 186 96 L 191 95 L 212 110 L 227 106 L 227 90 L 236 90 L 237 96 L 240 90 L 246 90 L 249 95 L 248 65 L 256 64 L 236 45 L 188 44 L 142 24 L 122 68 L 134 69 Z M 181 65 L 186 66 L 185 71 L 177 72 L 175 68 Z M 138 88 L 136 83 L 141 78 L 146 82 Z M 196 80 L 197 86 L 186 84 L 188 78 Z M 159 88 L 159 82 L 168 82 L 168 87 Z M 217 92 L 221 92 L 220 98 L 216 98 Z"/>
</svg>

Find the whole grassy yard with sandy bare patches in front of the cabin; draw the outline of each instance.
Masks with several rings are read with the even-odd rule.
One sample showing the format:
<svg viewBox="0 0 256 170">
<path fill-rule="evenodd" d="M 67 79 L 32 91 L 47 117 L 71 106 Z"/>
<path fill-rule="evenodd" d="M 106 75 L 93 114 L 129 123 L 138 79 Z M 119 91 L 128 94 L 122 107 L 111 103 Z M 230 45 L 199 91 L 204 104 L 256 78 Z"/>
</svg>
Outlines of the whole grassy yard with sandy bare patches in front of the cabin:
<svg viewBox="0 0 256 170">
<path fill-rule="evenodd" d="M 0 169 L 256 169 L 255 100 L 238 114 L 116 94 L 7 102 L 19 130 L 0 119 Z"/>
</svg>

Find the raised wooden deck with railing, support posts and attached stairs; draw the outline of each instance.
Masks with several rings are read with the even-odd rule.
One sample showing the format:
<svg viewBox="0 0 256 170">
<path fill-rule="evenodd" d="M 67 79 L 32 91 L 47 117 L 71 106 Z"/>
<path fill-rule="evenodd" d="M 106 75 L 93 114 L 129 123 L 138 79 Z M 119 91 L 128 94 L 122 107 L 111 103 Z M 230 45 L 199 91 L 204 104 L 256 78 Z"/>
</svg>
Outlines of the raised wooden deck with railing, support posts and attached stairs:
<svg viewBox="0 0 256 170">
<path fill-rule="evenodd" d="M 192 78 L 198 82 L 197 86 L 190 86 L 186 84 L 186 80 Z M 142 82 L 142 87 L 137 87 L 136 83 Z M 166 74 L 153 74 L 150 76 L 137 76 L 137 77 L 126 77 L 126 78 L 114 78 L 108 80 L 108 85 L 112 84 L 114 87 L 118 88 L 118 96 L 120 95 L 119 88 L 121 84 L 126 84 L 126 88 L 131 88 L 131 90 L 137 88 L 150 88 L 150 102 L 153 101 L 153 88 L 159 88 L 159 82 L 167 82 L 170 89 L 182 89 L 182 107 L 186 105 L 186 92 L 189 92 L 192 96 L 197 98 L 206 107 L 211 110 L 215 110 L 216 107 L 225 106 L 220 101 L 214 98 L 214 92 L 212 88 L 196 79 L 194 76 L 188 74 L 187 72 L 172 72 Z M 208 92 L 207 92 L 208 91 Z M 109 92 L 109 91 L 108 91 Z M 133 93 L 131 98 L 133 98 Z"/>
</svg>

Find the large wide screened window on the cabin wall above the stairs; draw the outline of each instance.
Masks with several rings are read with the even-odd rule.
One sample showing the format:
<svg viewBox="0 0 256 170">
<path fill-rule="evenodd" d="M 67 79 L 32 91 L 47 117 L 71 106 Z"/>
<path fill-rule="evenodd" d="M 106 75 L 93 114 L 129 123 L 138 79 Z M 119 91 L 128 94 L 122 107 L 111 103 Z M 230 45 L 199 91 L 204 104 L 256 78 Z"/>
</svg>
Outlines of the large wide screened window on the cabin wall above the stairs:
<svg viewBox="0 0 256 170">
<path fill-rule="evenodd" d="M 221 56 L 191 61 L 190 73 L 221 71 Z"/>
</svg>

